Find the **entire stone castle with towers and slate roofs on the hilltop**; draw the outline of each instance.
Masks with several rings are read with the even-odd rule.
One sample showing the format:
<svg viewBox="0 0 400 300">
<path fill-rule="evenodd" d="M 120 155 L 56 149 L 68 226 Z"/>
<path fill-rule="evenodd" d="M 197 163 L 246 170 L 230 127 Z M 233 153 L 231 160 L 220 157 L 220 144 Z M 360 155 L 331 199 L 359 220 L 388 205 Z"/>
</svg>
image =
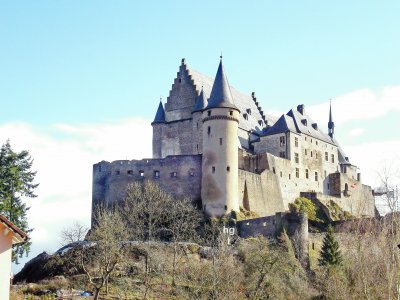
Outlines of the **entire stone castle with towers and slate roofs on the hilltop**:
<svg viewBox="0 0 400 300">
<path fill-rule="evenodd" d="M 335 139 L 298 105 L 279 118 L 255 94 L 229 85 L 222 58 L 215 79 L 182 59 L 153 127 L 153 158 L 93 165 L 92 207 L 124 199 L 130 182 L 156 181 L 177 198 L 190 197 L 208 216 L 244 209 L 258 216 L 288 210 L 300 195 L 332 201 L 353 216 L 374 216 L 371 187 Z"/>
</svg>

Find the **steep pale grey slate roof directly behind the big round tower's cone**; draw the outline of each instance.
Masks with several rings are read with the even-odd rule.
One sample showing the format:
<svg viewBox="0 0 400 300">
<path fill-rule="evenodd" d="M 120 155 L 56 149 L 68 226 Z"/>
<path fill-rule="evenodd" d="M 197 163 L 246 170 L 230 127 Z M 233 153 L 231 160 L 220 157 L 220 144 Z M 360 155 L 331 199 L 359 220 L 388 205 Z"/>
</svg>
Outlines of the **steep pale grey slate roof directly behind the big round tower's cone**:
<svg viewBox="0 0 400 300">
<path fill-rule="evenodd" d="M 211 95 L 214 80 L 196 70 L 191 69 L 187 64 L 186 69 L 188 70 L 189 75 L 191 76 L 196 86 L 197 92 L 200 93 L 201 88 L 203 87 L 204 96 L 206 99 L 208 99 Z M 254 130 L 256 133 L 261 134 L 262 129 L 265 127 L 265 124 L 261 126 L 258 123 L 260 120 L 263 120 L 263 117 L 261 115 L 261 107 L 256 105 L 251 95 L 243 94 L 231 85 L 230 90 L 233 103 L 241 112 L 239 119 L 239 128 L 246 131 Z M 247 110 L 249 110 L 250 113 L 248 113 Z M 247 114 L 247 120 L 245 119 L 244 114 Z M 265 121 L 268 122 L 268 124 L 273 124 L 276 121 L 276 117 L 272 115 L 264 114 L 264 118 Z"/>
</svg>

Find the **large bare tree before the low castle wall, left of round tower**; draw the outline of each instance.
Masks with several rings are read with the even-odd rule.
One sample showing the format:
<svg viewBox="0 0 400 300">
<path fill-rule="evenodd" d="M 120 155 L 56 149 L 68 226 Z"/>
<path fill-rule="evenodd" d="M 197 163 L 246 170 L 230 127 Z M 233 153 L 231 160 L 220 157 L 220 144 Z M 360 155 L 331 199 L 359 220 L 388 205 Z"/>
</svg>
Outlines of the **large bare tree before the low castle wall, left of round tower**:
<svg viewBox="0 0 400 300">
<path fill-rule="evenodd" d="M 131 239 L 142 242 L 145 255 L 145 293 L 150 289 L 154 272 L 152 260 L 157 241 L 170 242 L 173 255 L 171 262 L 171 283 L 176 285 L 176 268 L 184 254 L 180 242 L 190 242 L 196 237 L 201 215 L 189 199 L 174 199 L 151 181 L 135 182 L 128 186 L 127 197 L 120 206 L 129 228 Z M 168 257 L 165 256 L 165 260 Z M 154 268 L 153 268 L 154 269 Z"/>
</svg>

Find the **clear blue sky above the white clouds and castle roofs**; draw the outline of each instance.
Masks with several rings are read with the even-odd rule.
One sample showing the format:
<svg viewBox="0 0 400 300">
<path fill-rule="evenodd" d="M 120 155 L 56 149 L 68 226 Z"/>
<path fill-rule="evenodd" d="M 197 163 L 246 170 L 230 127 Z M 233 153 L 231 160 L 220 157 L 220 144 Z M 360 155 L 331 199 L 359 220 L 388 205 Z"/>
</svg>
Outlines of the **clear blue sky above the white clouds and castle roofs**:
<svg viewBox="0 0 400 300">
<path fill-rule="evenodd" d="M 152 118 L 180 59 L 265 111 L 399 83 L 399 1 L 2 1 L 0 120 Z"/>
</svg>

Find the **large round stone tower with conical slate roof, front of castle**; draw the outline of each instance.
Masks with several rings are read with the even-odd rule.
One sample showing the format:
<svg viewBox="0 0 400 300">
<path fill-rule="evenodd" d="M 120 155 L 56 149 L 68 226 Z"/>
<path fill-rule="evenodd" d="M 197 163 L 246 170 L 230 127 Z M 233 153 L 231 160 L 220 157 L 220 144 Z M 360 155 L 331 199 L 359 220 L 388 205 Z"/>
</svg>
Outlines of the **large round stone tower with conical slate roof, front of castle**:
<svg viewBox="0 0 400 300">
<path fill-rule="evenodd" d="M 239 211 L 239 114 L 221 57 L 208 105 L 203 110 L 201 198 L 208 216 L 219 217 L 232 210 Z"/>
</svg>

